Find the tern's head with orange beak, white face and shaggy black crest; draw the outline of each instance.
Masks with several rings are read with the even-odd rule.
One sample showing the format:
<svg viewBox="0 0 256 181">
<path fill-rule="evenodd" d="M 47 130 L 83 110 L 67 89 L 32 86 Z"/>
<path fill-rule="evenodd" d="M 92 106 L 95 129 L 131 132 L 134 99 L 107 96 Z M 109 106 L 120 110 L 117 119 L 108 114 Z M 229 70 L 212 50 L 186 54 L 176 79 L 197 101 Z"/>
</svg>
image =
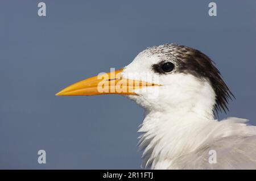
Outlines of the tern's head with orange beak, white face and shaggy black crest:
<svg viewBox="0 0 256 181">
<path fill-rule="evenodd" d="M 123 69 L 77 82 L 56 95 L 122 94 L 151 111 L 228 110 L 232 92 L 208 56 L 177 44 L 143 50 Z M 186 110 L 187 109 L 187 110 Z"/>
</svg>

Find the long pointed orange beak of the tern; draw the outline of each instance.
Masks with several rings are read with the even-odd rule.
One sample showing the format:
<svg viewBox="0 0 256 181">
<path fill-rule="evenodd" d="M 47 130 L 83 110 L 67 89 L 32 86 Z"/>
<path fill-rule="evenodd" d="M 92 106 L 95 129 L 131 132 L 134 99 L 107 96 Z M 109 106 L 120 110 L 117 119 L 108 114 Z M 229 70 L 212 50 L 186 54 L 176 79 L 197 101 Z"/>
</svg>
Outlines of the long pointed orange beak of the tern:
<svg viewBox="0 0 256 181">
<path fill-rule="evenodd" d="M 126 94 L 136 95 L 134 90 L 147 86 L 158 86 L 154 83 L 136 81 L 122 78 L 123 69 L 110 73 L 99 74 L 97 76 L 74 83 L 71 86 L 58 92 L 56 95 L 100 95 L 100 94 Z"/>
</svg>

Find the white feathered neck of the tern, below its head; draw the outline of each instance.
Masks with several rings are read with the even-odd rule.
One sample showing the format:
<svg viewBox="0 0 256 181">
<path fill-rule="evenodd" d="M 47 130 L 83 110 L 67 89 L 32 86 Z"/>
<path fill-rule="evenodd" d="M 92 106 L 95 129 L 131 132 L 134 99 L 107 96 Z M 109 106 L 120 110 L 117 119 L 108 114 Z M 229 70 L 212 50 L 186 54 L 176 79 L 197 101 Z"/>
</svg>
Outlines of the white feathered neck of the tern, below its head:
<svg viewBox="0 0 256 181">
<path fill-rule="evenodd" d="M 184 108 L 186 110 L 186 108 Z M 205 111 L 169 112 L 146 111 L 139 137 L 143 150 L 142 167 L 166 169 L 173 159 L 198 148 L 206 132 L 200 130 L 213 121 L 213 115 Z M 164 163 L 168 160 L 167 163 Z"/>
</svg>

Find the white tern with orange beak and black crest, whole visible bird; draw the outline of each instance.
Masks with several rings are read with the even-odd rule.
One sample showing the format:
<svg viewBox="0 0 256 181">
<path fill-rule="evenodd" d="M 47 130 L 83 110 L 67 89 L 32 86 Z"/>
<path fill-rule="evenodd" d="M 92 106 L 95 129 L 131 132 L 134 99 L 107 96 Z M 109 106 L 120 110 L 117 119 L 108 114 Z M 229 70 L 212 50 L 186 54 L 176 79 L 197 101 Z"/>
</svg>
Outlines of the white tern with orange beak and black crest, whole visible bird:
<svg viewBox="0 0 256 181">
<path fill-rule="evenodd" d="M 138 130 L 144 169 L 256 169 L 256 127 L 247 119 L 216 119 L 235 97 L 200 50 L 148 47 L 124 68 L 56 95 L 100 94 L 121 94 L 144 108 Z"/>
</svg>

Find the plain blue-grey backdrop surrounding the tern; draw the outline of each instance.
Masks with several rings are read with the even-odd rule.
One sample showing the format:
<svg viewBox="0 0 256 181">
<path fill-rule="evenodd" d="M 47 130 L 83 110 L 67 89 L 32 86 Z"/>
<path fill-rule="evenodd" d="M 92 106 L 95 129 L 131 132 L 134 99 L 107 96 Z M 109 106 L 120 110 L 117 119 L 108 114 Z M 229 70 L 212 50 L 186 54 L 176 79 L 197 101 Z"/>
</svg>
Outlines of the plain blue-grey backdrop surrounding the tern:
<svg viewBox="0 0 256 181">
<path fill-rule="evenodd" d="M 122 68 L 152 45 L 200 49 L 236 100 L 227 116 L 256 123 L 256 1 L 0 2 L 0 168 L 140 169 L 143 110 L 119 95 L 57 97 Z M 39 164 L 38 150 L 47 152 Z"/>
</svg>

